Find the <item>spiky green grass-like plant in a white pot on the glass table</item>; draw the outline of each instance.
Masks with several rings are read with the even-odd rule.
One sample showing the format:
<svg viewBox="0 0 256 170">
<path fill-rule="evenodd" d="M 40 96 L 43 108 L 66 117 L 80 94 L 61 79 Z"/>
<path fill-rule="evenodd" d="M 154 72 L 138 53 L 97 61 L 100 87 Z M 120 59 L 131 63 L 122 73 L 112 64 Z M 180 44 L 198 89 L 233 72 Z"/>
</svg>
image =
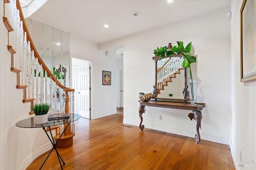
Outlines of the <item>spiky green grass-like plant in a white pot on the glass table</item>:
<svg viewBox="0 0 256 170">
<path fill-rule="evenodd" d="M 33 107 L 31 107 L 31 110 L 35 113 L 34 122 L 35 124 L 42 124 L 48 122 L 48 111 L 50 110 L 51 105 L 48 103 L 44 104 L 34 104 Z"/>
</svg>

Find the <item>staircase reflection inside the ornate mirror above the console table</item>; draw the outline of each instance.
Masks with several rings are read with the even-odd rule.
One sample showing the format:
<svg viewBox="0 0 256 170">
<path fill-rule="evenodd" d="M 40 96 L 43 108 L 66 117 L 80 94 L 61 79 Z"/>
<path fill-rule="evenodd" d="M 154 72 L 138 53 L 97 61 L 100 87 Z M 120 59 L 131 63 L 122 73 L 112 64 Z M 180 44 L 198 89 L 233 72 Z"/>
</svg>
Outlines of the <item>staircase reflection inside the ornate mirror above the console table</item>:
<svg viewBox="0 0 256 170">
<path fill-rule="evenodd" d="M 180 74 L 180 70 L 184 70 L 182 62 L 184 57 L 164 58 L 161 61 L 165 62 L 157 70 L 157 88 L 158 94 L 168 86 L 168 82 L 172 82 L 172 78 L 176 78 L 176 74 Z"/>
</svg>

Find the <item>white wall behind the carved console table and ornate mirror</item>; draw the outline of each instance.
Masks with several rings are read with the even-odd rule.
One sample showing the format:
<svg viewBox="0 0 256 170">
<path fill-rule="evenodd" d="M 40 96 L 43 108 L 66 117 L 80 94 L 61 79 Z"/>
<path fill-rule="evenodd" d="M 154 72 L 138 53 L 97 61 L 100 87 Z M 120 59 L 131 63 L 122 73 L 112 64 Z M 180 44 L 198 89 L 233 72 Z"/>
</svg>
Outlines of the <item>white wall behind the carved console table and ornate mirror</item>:
<svg viewBox="0 0 256 170">
<path fill-rule="evenodd" d="M 152 92 L 154 85 L 153 50 L 192 41 L 197 57 L 193 78 L 197 79 L 197 101 L 202 110 L 201 138 L 229 144 L 230 139 L 230 8 L 172 23 L 143 33 L 100 44 L 100 49 L 124 46 L 124 123 L 139 125 L 138 93 Z M 146 128 L 194 137 L 195 121 L 189 111 L 147 107 L 143 115 Z M 162 115 L 162 120 L 157 119 Z M 138 129 L 140 130 L 140 129 Z"/>
</svg>

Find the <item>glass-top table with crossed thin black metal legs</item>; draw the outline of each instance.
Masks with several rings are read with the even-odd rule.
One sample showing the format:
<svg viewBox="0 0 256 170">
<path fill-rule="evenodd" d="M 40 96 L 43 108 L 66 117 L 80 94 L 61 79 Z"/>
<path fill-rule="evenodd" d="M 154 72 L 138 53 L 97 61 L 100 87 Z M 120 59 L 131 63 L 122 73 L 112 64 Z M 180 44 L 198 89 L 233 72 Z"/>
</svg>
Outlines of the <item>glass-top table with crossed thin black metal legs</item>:
<svg viewBox="0 0 256 170">
<path fill-rule="evenodd" d="M 57 151 L 57 143 L 60 140 L 60 137 L 63 135 L 64 131 L 66 130 L 66 128 L 68 127 L 68 125 L 70 124 L 70 122 L 76 121 L 80 119 L 80 115 L 78 114 L 70 114 L 69 118 L 58 118 L 58 119 L 53 119 L 53 120 L 48 120 L 47 123 L 43 123 L 43 124 L 35 124 L 34 123 L 34 117 L 30 117 L 27 119 L 23 119 L 21 121 L 18 121 L 16 123 L 17 127 L 23 127 L 23 128 L 39 128 L 42 127 L 44 129 L 44 132 L 46 133 L 47 137 L 49 138 L 50 142 L 52 143 L 52 150 L 56 150 L 56 154 L 58 156 L 58 160 L 60 162 L 60 160 L 62 160 L 62 158 L 60 157 L 59 152 Z M 52 136 L 52 131 L 50 129 L 51 126 L 57 126 L 57 125 L 62 125 L 62 124 L 66 124 L 68 123 L 68 125 L 66 125 L 65 129 L 63 130 L 62 134 L 60 135 L 60 137 L 58 138 L 58 140 L 56 140 L 56 143 L 54 142 L 54 138 Z M 45 127 L 49 127 L 49 131 L 51 134 L 51 137 L 48 135 Z M 50 153 L 48 154 L 47 158 L 44 160 L 44 163 L 46 162 L 46 160 L 48 159 L 48 157 L 50 156 L 50 154 L 52 153 L 52 150 L 50 151 Z M 43 167 L 44 163 L 42 164 L 42 166 L 40 167 L 40 169 Z M 63 165 L 65 165 L 65 162 L 62 160 Z M 62 165 L 60 162 L 60 167 L 62 169 Z"/>
</svg>

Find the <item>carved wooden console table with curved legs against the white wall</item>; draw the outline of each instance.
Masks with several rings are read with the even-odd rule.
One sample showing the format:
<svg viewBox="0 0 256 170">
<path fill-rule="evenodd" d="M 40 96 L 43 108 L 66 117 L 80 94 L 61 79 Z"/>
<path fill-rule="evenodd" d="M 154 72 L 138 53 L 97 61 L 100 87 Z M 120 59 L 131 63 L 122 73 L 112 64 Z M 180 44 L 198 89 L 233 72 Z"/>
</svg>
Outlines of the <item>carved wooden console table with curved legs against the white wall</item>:
<svg viewBox="0 0 256 170">
<path fill-rule="evenodd" d="M 205 107 L 205 104 L 197 104 L 197 106 L 190 106 L 189 103 L 182 103 L 182 102 L 170 102 L 170 101 L 153 101 L 150 100 L 148 102 L 140 102 L 139 107 L 139 115 L 140 115 L 140 129 L 143 131 L 144 125 L 142 125 L 142 113 L 146 112 L 145 106 L 150 107 L 164 107 L 164 108 L 170 108 L 170 109 L 182 109 L 182 110 L 192 110 L 192 113 L 188 114 L 188 117 L 190 120 L 195 119 L 196 120 L 196 143 L 200 142 L 200 133 L 199 128 L 201 128 L 201 120 L 202 120 L 202 112 L 201 110 L 203 107 Z"/>
</svg>

